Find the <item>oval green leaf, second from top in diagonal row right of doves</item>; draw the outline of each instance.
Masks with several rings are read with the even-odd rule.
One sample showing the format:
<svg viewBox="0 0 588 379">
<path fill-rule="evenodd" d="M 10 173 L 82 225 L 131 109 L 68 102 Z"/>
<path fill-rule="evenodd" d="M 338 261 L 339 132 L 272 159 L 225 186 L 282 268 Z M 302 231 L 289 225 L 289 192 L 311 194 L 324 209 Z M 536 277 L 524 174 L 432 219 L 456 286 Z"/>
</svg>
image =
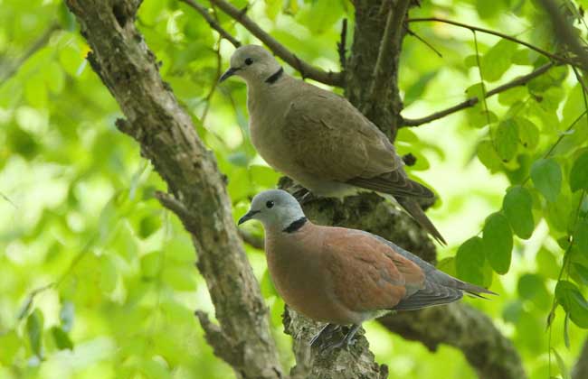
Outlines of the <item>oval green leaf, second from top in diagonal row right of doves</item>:
<svg viewBox="0 0 588 379">
<path fill-rule="evenodd" d="M 521 186 L 507 189 L 502 208 L 515 234 L 523 239 L 529 238 L 535 229 L 532 207 L 533 198 L 528 189 Z"/>
</svg>

